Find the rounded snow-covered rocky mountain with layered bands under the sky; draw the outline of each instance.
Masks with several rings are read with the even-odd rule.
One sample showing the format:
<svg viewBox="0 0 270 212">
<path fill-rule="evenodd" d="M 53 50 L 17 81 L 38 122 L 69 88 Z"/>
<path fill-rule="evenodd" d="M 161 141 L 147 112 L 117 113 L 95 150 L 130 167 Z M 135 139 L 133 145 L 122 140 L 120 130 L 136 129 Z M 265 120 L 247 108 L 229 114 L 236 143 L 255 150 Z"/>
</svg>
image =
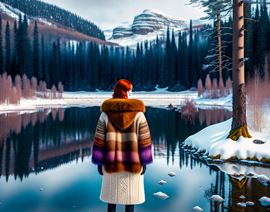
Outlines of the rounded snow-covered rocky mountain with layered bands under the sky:
<svg viewBox="0 0 270 212">
<path fill-rule="evenodd" d="M 211 21 L 194 20 L 193 27 L 201 27 L 202 24 L 212 23 Z M 121 46 L 135 48 L 137 42 L 144 40 L 152 41 L 156 36 L 165 37 L 167 27 L 174 30 L 177 37 L 180 30 L 189 29 L 190 20 L 173 17 L 162 11 L 146 9 L 140 15 L 134 17 L 132 23 L 115 27 L 113 30 L 106 30 L 107 40 L 118 43 Z M 112 33 L 109 37 L 109 33 Z"/>
</svg>

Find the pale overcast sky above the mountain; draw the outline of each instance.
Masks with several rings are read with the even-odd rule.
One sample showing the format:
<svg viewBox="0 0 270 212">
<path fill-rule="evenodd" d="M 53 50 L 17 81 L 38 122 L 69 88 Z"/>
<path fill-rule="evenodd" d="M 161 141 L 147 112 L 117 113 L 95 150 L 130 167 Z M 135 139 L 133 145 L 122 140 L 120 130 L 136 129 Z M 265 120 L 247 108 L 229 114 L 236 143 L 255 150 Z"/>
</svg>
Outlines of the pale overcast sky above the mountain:
<svg viewBox="0 0 270 212">
<path fill-rule="evenodd" d="M 122 22 L 132 22 L 134 16 L 153 8 L 185 19 L 205 16 L 203 9 L 185 5 L 189 0 L 42 0 L 77 13 L 96 23 L 102 30 L 112 29 Z"/>
</svg>

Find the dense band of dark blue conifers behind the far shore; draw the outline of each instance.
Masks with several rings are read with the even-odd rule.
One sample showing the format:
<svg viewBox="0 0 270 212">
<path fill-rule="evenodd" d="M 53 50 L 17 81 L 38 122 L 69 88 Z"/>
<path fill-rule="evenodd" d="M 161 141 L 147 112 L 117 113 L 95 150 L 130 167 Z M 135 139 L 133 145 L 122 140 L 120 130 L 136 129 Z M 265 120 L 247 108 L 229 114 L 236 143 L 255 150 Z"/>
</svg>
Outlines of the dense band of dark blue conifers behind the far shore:
<svg viewBox="0 0 270 212">
<path fill-rule="evenodd" d="M 14 1 L 16 2 L 16 1 Z M 265 51 L 270 49 L 270 22 L 265 5 L 245 7 L 245 62 L 247 73 L 252 75 L 253 67 L 263 64 Z M 221 20 L 221 26 L 231 27 L 231 17 Z M 1 26 L 1 25 L 0 25 Z M 192 21 L 190 22 L 192 28 Z M 155 86 L 167 87 L 171 91 L 181 91 L 196 87 L 199 79 L 204 85 L 207 73 L 211 80 L 218 77 L 218 72 L 211 72 L 211 67 L 202 69 L 202 64 L 209 64 L 212 55 L 212 43 L 215 34 L 205 36 L 201 29 L 183 30 L 177 34 L 168 28 L 165 38 L 137 44 L 137 49 L 127 47 L 97 45 L 93 42 L 70 42 L 60 38 L 45 40 L 35 25 L 33 34 L 27 33 L 27 17 L 20 17 L 14 22 L 14 37 L 10 36 L 9 23 L 0 32 L 0 74 L 7 71 L 14 80 L 16 74 L 35 76 L 37 81 L 44 80 L 47 88 L 62 82 L 65 91 L 112 90 L 119 79 L 130 80 L 134 90 L 155 90 Z M 231 33 L 224 29 L 222 33 Z M 31 38 L 31 39 L 30 39 Z M 176 38 L 178 40 L 176 40 Z M 192 38 L 192 39 L 190 39 Z M 11 40 L 13 39 L 13 40 Z M 228 47 L 222 54 L 232 57 L 231 35 L 222 36 Z M 11 45 L 13 44 L 14 45 Z M 231 71 L 223 71 L 224 84 Z"/>
</svg>

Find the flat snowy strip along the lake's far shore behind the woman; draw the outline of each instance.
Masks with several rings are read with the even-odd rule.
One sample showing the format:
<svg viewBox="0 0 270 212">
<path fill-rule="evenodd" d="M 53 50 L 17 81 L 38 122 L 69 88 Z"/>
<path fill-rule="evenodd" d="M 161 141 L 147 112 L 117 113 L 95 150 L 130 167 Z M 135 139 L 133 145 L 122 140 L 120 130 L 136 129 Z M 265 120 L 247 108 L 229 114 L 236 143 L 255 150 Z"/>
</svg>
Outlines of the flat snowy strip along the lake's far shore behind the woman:
<svg viewBox="0 0 270 212">
<path fill-rule="evenodd" d="M 181 102 L 188 96 L 192 98 L 198 107 L 208 106 L 225 106 L 231 109 L 231 95 L 219 99 L 203 99 L 198 98 L 197 91 L 181 91 L 169 92 L 167 88 L 157 89 L 151 92 L 132 92 L 131 98 L 140 99 L 145 106 L 168 108 L 172 104 L 176 108 L 180 108 Z M 22 99 L 20 105 L 0 105 L 0 113 L 8 113 L 13 111 L 37 110 L 45 107 L 92 107 L 100 106 L 102 102 L 111 98 L 113 92 L 64 92 L 62 99 L 42 99 L 34 100 Z"/>
</svg>

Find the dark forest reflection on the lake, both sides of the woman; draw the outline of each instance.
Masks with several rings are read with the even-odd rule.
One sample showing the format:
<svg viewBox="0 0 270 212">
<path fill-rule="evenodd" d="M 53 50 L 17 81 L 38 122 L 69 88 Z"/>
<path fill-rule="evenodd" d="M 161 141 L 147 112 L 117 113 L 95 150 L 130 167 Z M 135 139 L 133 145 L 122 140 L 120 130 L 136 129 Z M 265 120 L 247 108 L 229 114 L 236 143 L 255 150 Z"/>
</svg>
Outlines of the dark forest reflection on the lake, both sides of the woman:
<svg viewBox="0 0 270 212">
<path fill-rule="evenodd" d="M 231 112 L 224 109 L 199 109 L 199 118 L 191 123 L 181 121 L 181 113 L 174 110 L 147 108 L 155 158 L 170 158 L 174 164 L 177 146 L 188 136 L 197 133 L 209 124 L 230 118 Z M 14 173 L 22 180 L 31 172 L 38 173 L 68 163 L 79 157 L 91 155 L 93 135 L 99 119 L 99 107 L 52 108 L 34 113 L 0 114 L 1 139 L 0 173 Z M 64 120 L 64 121 L 63 121 Z M 188 155 L 180 148 L 180 168 L 188 164 Z M 191 160 L 191 169 L 196 163 Z"/>
</svg>

